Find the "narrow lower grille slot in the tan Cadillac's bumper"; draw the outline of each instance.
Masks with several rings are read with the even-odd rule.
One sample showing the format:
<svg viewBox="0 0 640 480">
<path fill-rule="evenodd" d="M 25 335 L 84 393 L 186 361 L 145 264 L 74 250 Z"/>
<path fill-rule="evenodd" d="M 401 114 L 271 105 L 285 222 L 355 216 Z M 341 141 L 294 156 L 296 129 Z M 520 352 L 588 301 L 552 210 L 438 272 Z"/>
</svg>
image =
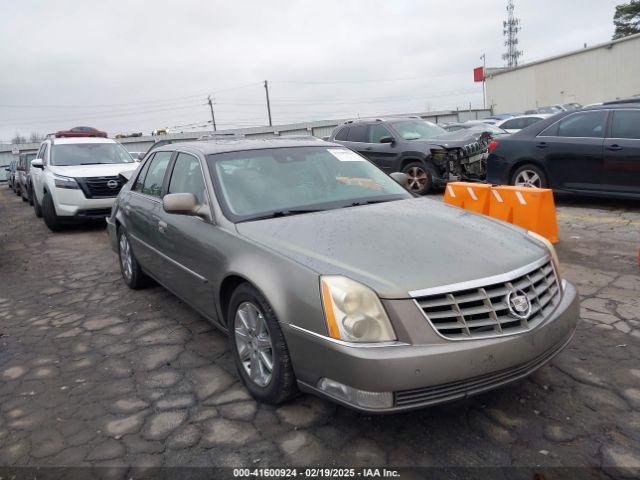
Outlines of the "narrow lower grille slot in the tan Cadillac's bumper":
<svg viewBox="0 0 640 480">
<path fill-rule="evenodd" d="M 547 350 L 541 355 L 529 360 L 526 363 L 516 365 L 511 368 L 500 370 L 485 375 L 458 380 L 456 382 L 442 383 L 431 387 L 414 388 L 412 390 L 401 390 L 394 393 L 394 403 L 397 407 L 408 407 L 417 405 L 429 405 L 464 398 L 470 395 L 491 390 L 509 382 L 513 382 L 534 372 L 558 352 L 560 352 L 570 339 Z"/>
</svg>

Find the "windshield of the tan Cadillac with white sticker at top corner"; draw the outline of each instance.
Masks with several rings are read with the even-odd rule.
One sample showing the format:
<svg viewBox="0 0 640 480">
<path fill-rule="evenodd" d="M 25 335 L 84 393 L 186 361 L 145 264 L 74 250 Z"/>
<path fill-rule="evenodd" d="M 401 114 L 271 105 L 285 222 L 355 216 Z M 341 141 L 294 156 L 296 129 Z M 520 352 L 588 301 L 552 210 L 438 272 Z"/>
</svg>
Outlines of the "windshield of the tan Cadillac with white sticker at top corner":
<svg viewBox="0 0 640 480">
<path fill-rule="evenodd" d="M 247 221 L 411 198 L 346 148 L 289 147 L 207 157 L 227 216 Z"/>
</svg>

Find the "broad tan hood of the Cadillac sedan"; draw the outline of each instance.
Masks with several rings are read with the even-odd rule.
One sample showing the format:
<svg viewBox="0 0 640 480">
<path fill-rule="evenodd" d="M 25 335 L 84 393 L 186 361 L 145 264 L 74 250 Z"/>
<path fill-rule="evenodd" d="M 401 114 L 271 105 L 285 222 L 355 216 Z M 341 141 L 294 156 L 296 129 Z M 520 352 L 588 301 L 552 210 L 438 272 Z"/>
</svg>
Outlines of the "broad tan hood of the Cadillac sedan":
<svg viewBox="0 0 640 480">
<path fill-rule="evenodd" d="M 517 227 L 414 198 L 242 222 L 240 235 L 383 298 L 515 270 L 547 252 Z"/>
</svg>

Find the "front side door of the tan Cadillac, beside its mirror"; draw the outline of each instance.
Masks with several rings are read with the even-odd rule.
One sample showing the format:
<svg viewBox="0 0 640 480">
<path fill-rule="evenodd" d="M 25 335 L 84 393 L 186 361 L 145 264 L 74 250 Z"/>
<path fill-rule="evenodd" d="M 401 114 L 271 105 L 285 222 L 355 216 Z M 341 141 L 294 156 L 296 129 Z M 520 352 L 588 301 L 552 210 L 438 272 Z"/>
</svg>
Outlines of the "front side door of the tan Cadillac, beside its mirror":
<svg viewBox="0 0 640 480">
<path fill-rule="evenodd" d="M 192 193 L 198 204 L 211 209 L 204 181 L 204 165 L 193 154 L 178 152 L 167 183 L 167 194 Z M 212 315 L 214 292 L 208 279 L 221 257 L 212 254 L 207 238 L 215 234 L 211 221 L 159 210 L 158 245 L 163 253 L 165 285 L 206 315 Z"/>
</svg>

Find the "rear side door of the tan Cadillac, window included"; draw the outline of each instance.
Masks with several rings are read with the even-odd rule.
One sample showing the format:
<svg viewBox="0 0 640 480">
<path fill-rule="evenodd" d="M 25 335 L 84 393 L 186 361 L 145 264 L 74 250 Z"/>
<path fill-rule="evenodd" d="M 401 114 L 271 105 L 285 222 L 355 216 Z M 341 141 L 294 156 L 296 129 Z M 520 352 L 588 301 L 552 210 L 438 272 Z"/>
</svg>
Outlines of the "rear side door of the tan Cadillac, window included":
<svg viewBox="0 0 640 480">
<path fill-rule="evenodd" d="M 165 174 L 172 154 L 156 152 L 145 162 L 122 205 L 136 258 L 147 272 L 162 283 L 165 272 L 159 250 L 158 229 Z"/>
</svg>

